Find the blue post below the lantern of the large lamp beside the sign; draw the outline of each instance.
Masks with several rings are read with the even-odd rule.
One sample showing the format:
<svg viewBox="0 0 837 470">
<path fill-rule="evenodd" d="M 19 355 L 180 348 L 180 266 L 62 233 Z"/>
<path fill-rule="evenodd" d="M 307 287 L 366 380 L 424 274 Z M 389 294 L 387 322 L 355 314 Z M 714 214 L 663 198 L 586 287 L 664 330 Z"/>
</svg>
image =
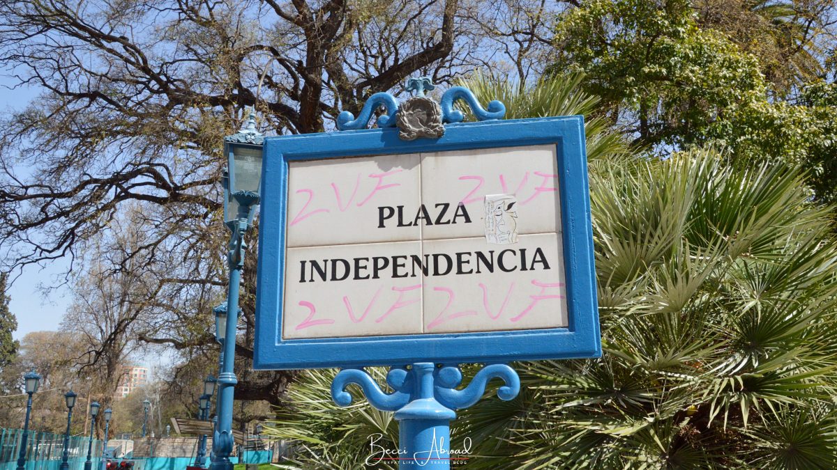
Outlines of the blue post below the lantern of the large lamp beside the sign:
<svg viewBox="0 0 837 470">
<path fill-rule="evenodd" d="M 218 403 L 216 415 L 218 427 L 213 435 L 215 460 L 213 470 L 233 470 L 229 456 L 233 452 L 233 406 L 235 400 L 235 335 L 239 324 L 239 289 L 241 270 L 244 268 L 244 234 L 247 232 L 250 207 L 259 202 L 259 195 L 254 192 L 236 192 L 234 197 L 239 202 L 238 220 L 230 222 L 232 237 L 229 243 L 229 289 L 227 291 L 227 330 L 223 343 L 223 367 L 218 374 Z"/>
</svg>

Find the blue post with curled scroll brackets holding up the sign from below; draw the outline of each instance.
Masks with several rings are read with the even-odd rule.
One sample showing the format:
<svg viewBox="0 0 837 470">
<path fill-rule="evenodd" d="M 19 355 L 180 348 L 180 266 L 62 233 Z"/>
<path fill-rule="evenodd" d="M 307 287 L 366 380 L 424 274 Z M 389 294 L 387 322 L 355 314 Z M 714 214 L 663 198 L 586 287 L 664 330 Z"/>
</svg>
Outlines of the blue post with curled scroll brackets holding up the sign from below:
<svg viewBox="0 0 837 470">
<path fill-rule="evenodd" d="M 331 398 L 339 406 L 349 406 L 352 395 L 349 384 L 361 386 L 369 403 L 381 411 L 395 411 L 398 421 L 398 467 L 433 468 L 447 470 L 450 461 L 460 457 L 451 452 L 450 420 L 454 410 L 473 405 L 485 392 L 485 385 L 494 377 L 506 382 L 497 391 L 501 400 L 511 400 L 520 392 L 520 378 L 505 364 L 486 365 L 474 375 L 467 387 L 455 390 L 462 382 L 458 366 L 436 367 L 430 362 L 419 362 L 407 367 L 393 367 L 387 374 L 390 394 L 381 388 L 365 370 L 344 369 L 331 383 Z M 392 459 L 394 452 L 382 453 L 372 462 Z"/>
</svg>

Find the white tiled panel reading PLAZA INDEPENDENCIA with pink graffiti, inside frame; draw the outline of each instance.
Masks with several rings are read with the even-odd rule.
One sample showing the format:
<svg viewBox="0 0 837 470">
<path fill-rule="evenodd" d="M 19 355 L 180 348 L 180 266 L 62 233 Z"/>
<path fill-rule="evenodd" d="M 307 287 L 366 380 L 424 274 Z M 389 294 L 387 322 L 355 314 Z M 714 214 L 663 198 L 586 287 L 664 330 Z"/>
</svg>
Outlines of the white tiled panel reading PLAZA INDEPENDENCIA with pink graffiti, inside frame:
<svg viewBox="0 0 837 470">
<path fill-rule="evenodd" d="M 286 340 L 567 326 L 554 145 L 289 163 Z"/>
</svg>

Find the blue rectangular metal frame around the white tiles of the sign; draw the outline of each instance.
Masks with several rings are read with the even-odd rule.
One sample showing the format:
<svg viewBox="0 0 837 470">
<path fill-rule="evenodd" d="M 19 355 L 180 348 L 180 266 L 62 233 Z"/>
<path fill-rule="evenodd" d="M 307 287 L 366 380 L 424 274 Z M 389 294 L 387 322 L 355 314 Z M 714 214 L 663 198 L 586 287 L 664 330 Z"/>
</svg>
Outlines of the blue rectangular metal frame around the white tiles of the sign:
<svg viewBox="0 0 837 470">
<path fill-rule="evenodd" d="M 567 328 L 283 340 L 288 162 L 479 148 L 557 146 Z M 254 369 L 460 364 L 601 355 L 583 116 L 445 125 L 439 139 L 405 141 L 394 127 L 264 140 Z"/>
</svg>

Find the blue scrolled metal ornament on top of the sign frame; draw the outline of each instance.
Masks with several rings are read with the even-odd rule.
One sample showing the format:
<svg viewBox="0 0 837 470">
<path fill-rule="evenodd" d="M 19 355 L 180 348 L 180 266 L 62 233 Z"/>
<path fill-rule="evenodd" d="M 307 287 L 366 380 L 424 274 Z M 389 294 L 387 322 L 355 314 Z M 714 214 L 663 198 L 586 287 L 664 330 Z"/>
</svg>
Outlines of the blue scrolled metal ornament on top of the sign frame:
<svg viewBox="0 0 837 470">
<path fill-rule="evenodd" d="M 422 79 L 426 79 L 426 77 Z M 420 95 L 424 95 L 424 90 L 434 88 L 433 84 L 429 84 L 429 79 L 426 80 L 428 82 L 426 84 L 424 82 L 419 83 L 420 79 L 411 80 L 413 81 L 410 82 L 409 89 L 419 92 Z M 503 116 L 506 115 L 506 105 L 503 105 L 500 101 L 491 101 L 488 104 L 488 110 L 485 110 L 470 89 L 462 86 L 454 86 L 444 92 L 442 100 L 439 103 L 442 108 L 442 122 L 456 123 L 462 122 L 465 119 L 462 111 L 454 109 L 454 102 L 457 100 L 465 101 L 470 106 L 477 120 L 499 120 L 503 119 Z M 363 109 L 357 118 L 349 111 L 343 111 L 340 115 L 337 115 L 337 129 L 366 129 L 367 125 L 369 125 L 369 120 L 372 119 L 372 114 L 379 106 L 383 106 L 387 110 L 387 114 L 377 118 L 377 126 L 381 128 L 394 127 L 395 115 L 398 112 L 398 101 L 395 100 L 393 95 L 380 92 L 369 97 L 369 100 L 363 105 Z"/>
</svg>

